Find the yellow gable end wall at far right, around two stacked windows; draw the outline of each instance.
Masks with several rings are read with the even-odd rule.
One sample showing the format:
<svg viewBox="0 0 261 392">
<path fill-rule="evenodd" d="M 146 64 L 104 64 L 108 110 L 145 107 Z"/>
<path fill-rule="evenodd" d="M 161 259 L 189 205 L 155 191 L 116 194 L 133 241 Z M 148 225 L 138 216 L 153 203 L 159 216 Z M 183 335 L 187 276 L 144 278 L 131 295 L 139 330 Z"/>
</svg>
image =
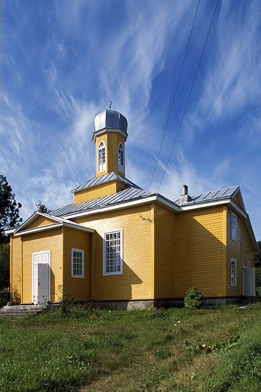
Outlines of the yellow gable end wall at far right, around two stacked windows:
<svg viewBox="0 0 261 392">
<path fill-rule="evenodd" d="M 235 214 L 236 215 L 236 214 Z M 231 257 L 236 259 L 236 286 L 231 286 Z M 237 215 L 236 241 L 231 239 L 231 211 L 227 214 L 227 295 L 243 295 L 243 266 L 254 266 L 254 251 L 246 224 L 243 218 Z"/>
</svg>

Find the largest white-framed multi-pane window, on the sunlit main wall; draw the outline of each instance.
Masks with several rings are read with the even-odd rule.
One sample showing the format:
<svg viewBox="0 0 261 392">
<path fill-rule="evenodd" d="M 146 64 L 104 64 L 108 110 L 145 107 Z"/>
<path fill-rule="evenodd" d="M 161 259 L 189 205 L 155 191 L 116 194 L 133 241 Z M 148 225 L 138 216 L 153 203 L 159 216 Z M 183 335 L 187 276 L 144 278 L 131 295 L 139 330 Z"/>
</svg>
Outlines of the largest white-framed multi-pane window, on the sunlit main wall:
<svg viewBox="0 0 261 392">
<path fill-rule="evenodd" d="M 105 232 L 103 237 L 103 275 L 123 274 L 123 230 Z"/>
</svg>

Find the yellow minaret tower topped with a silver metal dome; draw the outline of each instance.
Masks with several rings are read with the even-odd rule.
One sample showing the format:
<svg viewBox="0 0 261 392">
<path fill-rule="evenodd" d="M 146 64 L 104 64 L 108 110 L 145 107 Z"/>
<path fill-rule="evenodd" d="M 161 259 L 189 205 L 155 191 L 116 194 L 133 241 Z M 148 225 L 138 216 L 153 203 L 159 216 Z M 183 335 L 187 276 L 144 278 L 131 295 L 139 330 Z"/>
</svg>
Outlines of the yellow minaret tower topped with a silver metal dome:
<svg viewBox="0 0 261 392">
<path fill-rule="evenodd" d="M 125 178 L 127 119 L 118 110 L 106 109 L 94 117 L 93 140 L 96 143 L 96 177 L 115 172 Z"/>
</svg>

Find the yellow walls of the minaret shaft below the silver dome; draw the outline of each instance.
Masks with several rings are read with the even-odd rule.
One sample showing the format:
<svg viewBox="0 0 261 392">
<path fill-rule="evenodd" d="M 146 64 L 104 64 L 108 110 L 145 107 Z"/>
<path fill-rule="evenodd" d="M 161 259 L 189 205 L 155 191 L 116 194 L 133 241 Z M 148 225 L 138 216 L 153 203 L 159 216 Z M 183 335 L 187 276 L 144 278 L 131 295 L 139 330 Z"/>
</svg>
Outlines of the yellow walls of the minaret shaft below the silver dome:
<svg viewBox="0 0 261 392">
<path fill-rule="evenodd" d="M 106 161 L 107 161 L 107 169 L 103 172 L 98 173 L 98 146 L 101 140 L 104 141 L 106 145 Z M 111 173 L 114 171 L 119 174 L 121 177 L 125 177 L 125 173 L 121 173 L 118 171 L 118 146 L 119 143 L 122 142 L 122 146 L 125 153 L 124 147 L 124 137 L 116 132 L 107 132 L 96 138 L 96 176 L 102 176 L 107 173 Z"/>
</svg>

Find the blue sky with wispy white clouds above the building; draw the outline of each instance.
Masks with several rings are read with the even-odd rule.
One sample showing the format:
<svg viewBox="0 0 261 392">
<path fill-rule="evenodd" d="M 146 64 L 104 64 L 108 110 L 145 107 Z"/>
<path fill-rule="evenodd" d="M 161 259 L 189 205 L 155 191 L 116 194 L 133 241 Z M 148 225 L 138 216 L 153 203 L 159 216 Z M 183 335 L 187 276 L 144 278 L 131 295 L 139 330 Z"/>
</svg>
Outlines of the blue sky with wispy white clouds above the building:
<svg viewBox="0 0 261 392">
<path fill-rule="evenodd" d="M 0 0 L 1 172 L 24 220 L 39 200 L 49 209 L 73 202 L 70 191 L 95 176 L 93 119 L 109 101 L 128 120 L 126 177 L 148 190 L 197 6 Z M 151 192 L 159 190 L 215 7 L 216 0 L 200 1 Z M 219 1 L 159 190 L 174 200 L 183 184 L 190 195 L 240 185 L 257 240 L 260 16 L 258 0 Z"/>
</svg>

